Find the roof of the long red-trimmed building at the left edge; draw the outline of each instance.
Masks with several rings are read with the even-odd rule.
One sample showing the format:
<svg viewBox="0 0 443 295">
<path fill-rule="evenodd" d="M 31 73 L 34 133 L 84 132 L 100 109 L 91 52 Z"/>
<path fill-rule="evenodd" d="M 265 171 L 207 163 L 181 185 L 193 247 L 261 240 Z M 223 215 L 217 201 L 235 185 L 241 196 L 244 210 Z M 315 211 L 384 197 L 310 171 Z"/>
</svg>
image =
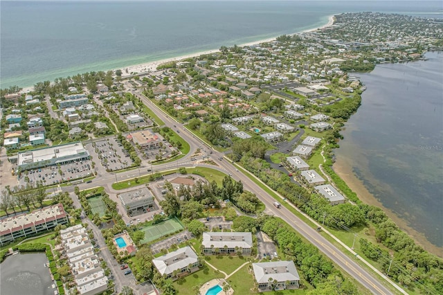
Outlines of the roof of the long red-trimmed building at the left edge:
<svg viewBox="0 0 443 295">
<path fill-rule="evenodd" d="M 62 204 L 44 207 L 28 214 L 6 217 L 0 220 L 0 234 L 15 232 L 19 229 L 27 229 L 37 224 L 43 224 L 66 217 Z"/>
</svg>

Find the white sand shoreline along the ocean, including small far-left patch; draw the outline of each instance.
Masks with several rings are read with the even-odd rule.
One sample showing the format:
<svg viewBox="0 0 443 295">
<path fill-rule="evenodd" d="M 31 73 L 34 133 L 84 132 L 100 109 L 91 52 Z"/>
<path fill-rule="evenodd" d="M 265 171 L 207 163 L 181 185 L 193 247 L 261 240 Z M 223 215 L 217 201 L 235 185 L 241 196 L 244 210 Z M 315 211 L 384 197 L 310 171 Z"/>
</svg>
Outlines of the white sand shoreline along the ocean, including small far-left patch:
<svg viewBox="0 0 443 295">
<path fill-rule="evenodd" d="M 302 30 L 301 32 L 291 33 L 288 35 L 310 33 L 310 32 L 314 32 L 316 30 L 321 30 L 323 28 L 327 28 L 328 26 L 332 26 L 334 24 L 335 15 L 329 15 L 329 16 L 327 16 L 327 19 L 328 19 L 327 23 L 324 24 L 323 26 L 318 26 L 316 28 L 309 28 L 307 30 Z M 271 37 L 271 38 L 267 38 L 267 39 L 261 39 L 261 40 L 257 40 L 257 41 L 253 41 L 253 42 L 248 42 L 248 43 L 240 44 L 237 46 L 239 46 L 239 47 L 252 46 L 252 45 L 257 45 L 257 44 L 261 44 L 261 43 L 272 42 L 272 41 L 275 41 L 275 39 L 277 37 L 279 37 L 279 36 Z M 121 77 L 127 78 L 132 75 L 131 73 L 143 74 L 143 73 L 155 72 L 157 69 L 157 66 L 159 66 L 160 64 L 165 64 L 168 62 L 178 62 L 180 60 L 186 60 L 187 58 L 198 57 L 200 55 L 208 55 L 208 54 L 217 53 L 217 52 L 219 52 L 219 49 L 210 49 L 208 51 L 199 51 L 197 53 L 190 53 L 190 54 L 186 54 L 186 55 L 165 58 L 163 60 L 154 60 L 152 62 L 144 62 L 143 64 L 133 64 L 131 66 L 124 66 L 121 68 L 112 69 L 111 71 L 114 71 L 114 73 L 115 73 L 115 71 L 120 70 L 120 71 L 122 71 Z M 34 89 L 34 86 L 23 87 L 23 89 L 20 91 L 20 93 L 28 93 L 30 91 L 33 91 L 33 89 Z"/>
</svg>

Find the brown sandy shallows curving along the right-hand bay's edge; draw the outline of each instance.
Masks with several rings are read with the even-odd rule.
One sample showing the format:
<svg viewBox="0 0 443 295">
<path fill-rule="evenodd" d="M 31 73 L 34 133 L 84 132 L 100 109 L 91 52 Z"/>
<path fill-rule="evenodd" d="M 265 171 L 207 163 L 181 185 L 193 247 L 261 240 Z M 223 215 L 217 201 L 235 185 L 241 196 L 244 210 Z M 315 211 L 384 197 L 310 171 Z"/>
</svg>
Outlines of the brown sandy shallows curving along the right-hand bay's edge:
<svg viewBox="0 0 443 295">
<path fill-rule="evenodd" d="M 336 159 L 334 162 L 332 169 L 334 172 L 336 172 L 338 177 L 345 181 L 347 186 L 349 186 L 349 188 L 356 193 L 361 202 L 381 208 L 381 210 L 383 210 L 383 212 L 386 213 L 386 215 L 388 215 L 388 217 L 395 222 L 397 226 L 399 226 L 401 231 L 404 231 L 411 238 L 413 238 L 417 245 L 423 247 L 425 251 L 433 253 L 435 256 L 442 258 L 442 247 L 438 247 L 437 245 L 429 242 L 423 233 L 413 229 L 408 225 L 406 220 L 399 217 L 389 208 L 383 206 L 383 204 L 376 197 L 374 197 L 372 193 L 370 193 L 368 188 L 365 187 L 361 179 L 355 175 L 352 166 L 348 163 L 347 159 L 340 159 L 340 161 L 337 160 L 338 159 Z"/>
</svg>

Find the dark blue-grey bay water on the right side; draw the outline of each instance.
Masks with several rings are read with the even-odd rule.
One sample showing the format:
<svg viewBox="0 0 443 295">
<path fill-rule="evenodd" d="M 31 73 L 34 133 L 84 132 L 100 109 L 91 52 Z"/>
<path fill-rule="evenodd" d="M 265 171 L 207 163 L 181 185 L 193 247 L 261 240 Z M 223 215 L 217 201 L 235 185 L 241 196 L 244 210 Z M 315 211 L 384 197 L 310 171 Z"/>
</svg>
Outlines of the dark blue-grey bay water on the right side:
<svg viewBox="0 0 443 295">
<path fill-rule="evenodd" d="M 426 57 L 356 73 L 368 90 L 341 132 L 334 168 L 443 247 L 443 53 Z"/>
</svg>

